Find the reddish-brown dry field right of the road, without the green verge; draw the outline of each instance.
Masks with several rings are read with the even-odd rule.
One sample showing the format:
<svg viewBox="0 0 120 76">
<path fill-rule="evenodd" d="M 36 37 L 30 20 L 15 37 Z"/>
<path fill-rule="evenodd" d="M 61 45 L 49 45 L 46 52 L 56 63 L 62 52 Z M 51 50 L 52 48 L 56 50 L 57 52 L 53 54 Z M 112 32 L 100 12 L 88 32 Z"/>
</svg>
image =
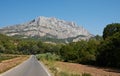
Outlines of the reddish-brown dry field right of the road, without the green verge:
<svg viewBox="0 0 120 76">
<path fill-rule="evenodd" d="M 56 62 L 55 66 L 61 71 L 67 71 L 73 74 L 89 73 L 92 76 L 120 76 L 119 70 L 97 68 L 88 65 L 67 63 L 67 62 Z"/>
</svg>

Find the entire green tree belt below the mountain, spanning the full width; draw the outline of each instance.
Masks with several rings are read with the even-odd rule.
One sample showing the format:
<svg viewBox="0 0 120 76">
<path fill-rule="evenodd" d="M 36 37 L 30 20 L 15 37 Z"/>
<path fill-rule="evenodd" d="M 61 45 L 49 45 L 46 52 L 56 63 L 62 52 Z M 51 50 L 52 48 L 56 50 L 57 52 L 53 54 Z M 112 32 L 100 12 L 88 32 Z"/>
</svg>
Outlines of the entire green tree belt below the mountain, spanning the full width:
<svg viewBox="0 0 120 76">
<path fill-rule="evenodd" d="M 120 68 L 120 24 L 108 24 L 103 37 L 69 44 L 43 43 L 33 39 L 15 39 L 0 34 L 0 53 L 42 54 L 51 53 L 67 62 Z"/>
</svg>

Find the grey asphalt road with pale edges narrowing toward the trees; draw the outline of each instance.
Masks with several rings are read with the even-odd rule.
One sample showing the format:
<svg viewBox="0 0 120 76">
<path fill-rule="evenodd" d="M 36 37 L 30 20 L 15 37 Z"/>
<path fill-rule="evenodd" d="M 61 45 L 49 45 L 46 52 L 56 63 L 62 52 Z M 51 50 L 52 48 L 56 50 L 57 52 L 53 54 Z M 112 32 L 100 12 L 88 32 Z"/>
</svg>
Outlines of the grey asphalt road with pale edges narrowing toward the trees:
<svg viewBox="0 0 120 76">
<path fill-rule="evenodd" d="M 34 55 L 17 67 L 8 70 L 0 76 L 51 76 L 47 69 Z"/>
</svg>

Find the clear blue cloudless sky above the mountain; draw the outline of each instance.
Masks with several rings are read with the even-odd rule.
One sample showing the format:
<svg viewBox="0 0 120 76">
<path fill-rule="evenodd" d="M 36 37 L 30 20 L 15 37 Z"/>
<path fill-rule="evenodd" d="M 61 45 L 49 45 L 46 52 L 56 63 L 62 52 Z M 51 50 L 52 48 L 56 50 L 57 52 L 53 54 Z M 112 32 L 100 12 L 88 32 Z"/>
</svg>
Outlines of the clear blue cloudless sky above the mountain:
<svg viewBox="0 0 120 76">
<path fill-rule="evenodd" d="M 0 27 L 38 16 L 73 21 L 102 35 L 107 24 L 120 23 L 120 0 L 0 0 Z"/>
</svg>

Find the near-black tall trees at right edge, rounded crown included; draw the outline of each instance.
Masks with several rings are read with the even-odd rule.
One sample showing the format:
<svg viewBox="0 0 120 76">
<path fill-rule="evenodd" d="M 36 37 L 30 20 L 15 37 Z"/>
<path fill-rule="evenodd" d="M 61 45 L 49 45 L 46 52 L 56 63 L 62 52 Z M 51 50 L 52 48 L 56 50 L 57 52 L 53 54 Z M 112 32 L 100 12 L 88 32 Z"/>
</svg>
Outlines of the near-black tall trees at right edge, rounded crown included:
<svg viewBox="0 0 120 76">
<path fill-rule="evenodd" d="M 103 32 L 104 40 L 98 47 L 97 64 L 120 68 L 120 24 L 109 24 Z"/>
</svg>

